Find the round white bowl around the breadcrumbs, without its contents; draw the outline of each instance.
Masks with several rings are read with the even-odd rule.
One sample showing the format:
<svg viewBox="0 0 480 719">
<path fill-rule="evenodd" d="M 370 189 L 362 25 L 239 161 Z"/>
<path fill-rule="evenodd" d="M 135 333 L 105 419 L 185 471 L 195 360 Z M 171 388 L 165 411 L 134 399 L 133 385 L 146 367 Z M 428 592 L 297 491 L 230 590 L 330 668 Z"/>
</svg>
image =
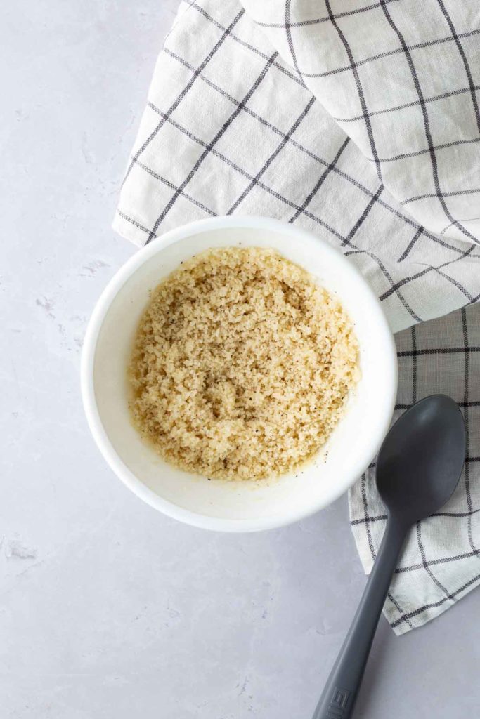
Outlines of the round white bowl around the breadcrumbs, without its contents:
<svg viewBox="0 0 480 719">
<path fill-rule="evenodd" d="M 148 290 L 210 247 L 273 247 L 335 294 L 355 324 L 361 380 L 323 452 L 298 476 L 219 482 L 163 462 L 140 439 L 127 408 L 126 366 Z M 217 217 L 174 229 L 140 249 L 101 295 L 86 332 L 82 395 L 96 444 L 127 487 L 155 509 L 198 527 L 255 531 L 306 517 L 338 498 L 379 449 L 397 393 L 397 354 L 380 303 L 356 268 L 317 235 L 260 217 Z"/>
</svg>

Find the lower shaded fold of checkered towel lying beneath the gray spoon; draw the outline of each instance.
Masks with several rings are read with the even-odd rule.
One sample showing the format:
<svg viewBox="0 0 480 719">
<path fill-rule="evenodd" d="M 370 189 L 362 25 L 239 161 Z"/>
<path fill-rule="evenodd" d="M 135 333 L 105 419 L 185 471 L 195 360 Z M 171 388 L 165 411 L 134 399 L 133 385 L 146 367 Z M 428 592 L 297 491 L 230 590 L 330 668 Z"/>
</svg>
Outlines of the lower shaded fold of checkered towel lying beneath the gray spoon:
<svg viewBox="0 0 480 719">
<path fill-rule="evenodd" d="M 417 324 L 396 336 L 399 391 L 394 418 L 435 393 L 463 411 L 466 464 L 456 492 L 417 523 L 390 587 L 384 613 L 397 634 L 421 626 L 480 583 L 480 304 Z M 386 525 L 373 464 L 350 490 L 350 523 L 370 572 Z"/>
</svg>

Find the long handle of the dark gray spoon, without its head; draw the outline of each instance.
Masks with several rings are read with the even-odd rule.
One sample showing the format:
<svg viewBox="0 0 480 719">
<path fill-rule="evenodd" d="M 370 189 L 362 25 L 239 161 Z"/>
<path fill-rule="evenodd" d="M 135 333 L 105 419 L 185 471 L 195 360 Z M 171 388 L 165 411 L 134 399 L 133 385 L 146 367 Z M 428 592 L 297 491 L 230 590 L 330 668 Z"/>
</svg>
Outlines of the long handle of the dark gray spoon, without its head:
<svg viewBox="0 0 480 719">
<path fill-rule="evenodd" d="M 349 719 L 353 715 L 373 636 L 406 533 L 407 527 L 389 517 L 358 610 L 312 719 Z"/>
</svg>

